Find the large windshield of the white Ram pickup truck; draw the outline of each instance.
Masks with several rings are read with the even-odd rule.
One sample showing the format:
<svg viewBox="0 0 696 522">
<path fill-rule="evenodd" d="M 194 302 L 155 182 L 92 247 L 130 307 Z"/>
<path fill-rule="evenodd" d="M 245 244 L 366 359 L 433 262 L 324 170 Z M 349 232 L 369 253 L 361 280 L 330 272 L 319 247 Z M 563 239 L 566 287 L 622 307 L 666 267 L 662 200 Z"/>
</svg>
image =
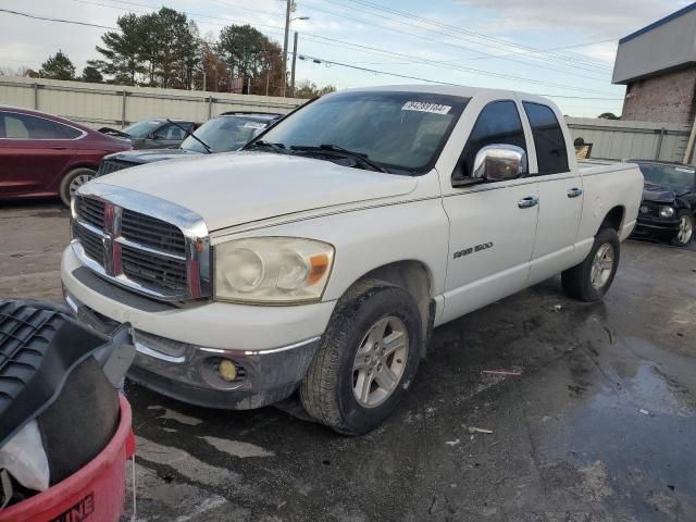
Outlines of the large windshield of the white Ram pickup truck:
<svg viewBox="0 0 696 522">
<path fill-rule="evenodd" d="M 468 101 L 427 92 L 332 95 L 285 117 L 260 139 L 289 152 L 333 146 L 389 172 L 420 174 L 434 165 Z"/>
</svg>

